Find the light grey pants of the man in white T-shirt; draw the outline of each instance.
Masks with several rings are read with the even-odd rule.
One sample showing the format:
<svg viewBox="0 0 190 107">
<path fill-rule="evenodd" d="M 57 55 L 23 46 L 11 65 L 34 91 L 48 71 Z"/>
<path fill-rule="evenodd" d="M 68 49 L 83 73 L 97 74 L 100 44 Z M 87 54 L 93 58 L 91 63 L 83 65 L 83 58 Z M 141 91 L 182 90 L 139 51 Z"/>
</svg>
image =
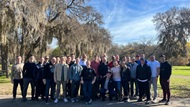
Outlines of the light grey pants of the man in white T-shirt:
<svg viewBox="0 0 190 107">
<path fill-rule="evenodd" d="M 151 84 L 153 85 L 153 89 L 154 89 L 154 97 L 153 97 L 153 99 L 156 99 L 156 98 L 157 98 L 157 95 L 158 95 L 158 90 L 157 90 L 157 77 L 151 77 L 150 88 L 151 88 Z"/>
</svg>

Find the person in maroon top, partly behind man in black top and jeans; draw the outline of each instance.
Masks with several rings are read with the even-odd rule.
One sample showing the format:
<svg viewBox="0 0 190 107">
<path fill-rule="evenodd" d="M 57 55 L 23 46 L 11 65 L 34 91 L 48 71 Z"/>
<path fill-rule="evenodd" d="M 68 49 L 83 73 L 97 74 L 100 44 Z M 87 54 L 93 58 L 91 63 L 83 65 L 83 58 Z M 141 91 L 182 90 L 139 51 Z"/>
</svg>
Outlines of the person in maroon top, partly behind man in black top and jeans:
<svg viewBox="0 0 190 107">
<path fill-rule="evenodd" d="M 91 68 L 95 70 L 96 73 L 96 82 L 93 85 L 93 93 L 92 93 L 92 99 L 98 98 L 98 92 L 99 92 L 99 85 L 100 85 L 100 74 L 98 72 L 98 67 L 100 65 L 100 60 L 98 55 L 94 55 L 94 60 L 91 61 Z"/>
</svg>

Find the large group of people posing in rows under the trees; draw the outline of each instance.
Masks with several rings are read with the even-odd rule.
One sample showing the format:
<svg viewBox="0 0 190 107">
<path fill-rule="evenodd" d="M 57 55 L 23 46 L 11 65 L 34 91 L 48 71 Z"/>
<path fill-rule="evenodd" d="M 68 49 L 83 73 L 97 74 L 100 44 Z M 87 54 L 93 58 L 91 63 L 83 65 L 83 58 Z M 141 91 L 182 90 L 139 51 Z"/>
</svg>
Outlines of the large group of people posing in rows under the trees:
<svg viewBox="0 0 190 107">
<path fill-rule="evenodd" d="M 52 57 L 51 60 L 46 56 L 36 62 L 35 57 L 31 55 L 28 62 L 22 63 L 22 57 L 18 56 L 11 71 L 13 101 L 16 99 L 18 84 L 22 102 L 27 101 L 30 83 L 31 100 L 39 100 L 41 97 L 47 104 L 49 100 L 58 103 L 61 97 L 64 102 L 70 99 L 72 103 L 83 98 L 86 104 L 99 98 L 105 101 L 106 97 L 110 101 L 115 98 L 126 102 L 133 97 L 138 97 L 137 101 L 141 102 L 146 97 L 144 101 L 149 104 L 151 84 L 154 90 L 152 101 L 157 101 L 157 80 L 160 76 L 163 99 L 159 102 L 170 104 L 169 83 L 172 69 L 165 55 L 160 56 L 160 62 L 154 55 L 150 56 L 150 60 L 146 60 L 144 54 L 123 57 L 122 60 L 116 55 L 111 57 L 110 62 L 107 59 L 106 54 L 101 57 L 95 55 L 92 61 L 87 60 L 86 54 L 81 58 L 75 58 L 75 55 L 71 54 Z M 63 96 L 60 92 L 63 92 Z"/>
</svg>

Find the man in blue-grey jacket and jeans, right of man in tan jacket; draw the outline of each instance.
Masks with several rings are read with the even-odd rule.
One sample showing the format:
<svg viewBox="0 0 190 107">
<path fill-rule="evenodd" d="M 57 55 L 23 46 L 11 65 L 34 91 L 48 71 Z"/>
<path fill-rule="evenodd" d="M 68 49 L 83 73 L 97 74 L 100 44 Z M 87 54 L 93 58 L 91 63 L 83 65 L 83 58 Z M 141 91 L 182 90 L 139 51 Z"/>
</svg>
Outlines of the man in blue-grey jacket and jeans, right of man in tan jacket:
<svg viewBox="0 0 190 107">
<path fill-rule="evenodd" d="M 80 86 L 80 75 L 83 67 L 79 64 L 80 59 L 76 59 L 76 63 L 70 67 L 69 79 L 71 83 L 71 102 L 77 101 L 78 90 Z"/>
</svg>

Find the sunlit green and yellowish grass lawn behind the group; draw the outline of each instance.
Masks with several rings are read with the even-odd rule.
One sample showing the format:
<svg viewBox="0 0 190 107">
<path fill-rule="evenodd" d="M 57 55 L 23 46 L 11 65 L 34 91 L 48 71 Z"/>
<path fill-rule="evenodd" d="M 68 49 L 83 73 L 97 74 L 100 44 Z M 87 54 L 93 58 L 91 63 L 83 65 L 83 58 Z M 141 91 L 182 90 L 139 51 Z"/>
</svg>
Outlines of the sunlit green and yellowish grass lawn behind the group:
<svg viewBox="0 0 190 107">
<path fill-rule="evenodd" d="M 171 96 L 178 98 L 190 98 L 190 66 L 174 66 L 170 80 Z M 0 95 L 11 95 L 12 84 L 10 78 L 0 76 Z M 29 88 L 30 89 L 30 88 Z M 18 94 L 20 93 L 18 89 Z M 28 93 L 30 91 L 28 90 Z M 162 90 L 158 80 L 158 94 L 162 96 Z"/>
</svg>

